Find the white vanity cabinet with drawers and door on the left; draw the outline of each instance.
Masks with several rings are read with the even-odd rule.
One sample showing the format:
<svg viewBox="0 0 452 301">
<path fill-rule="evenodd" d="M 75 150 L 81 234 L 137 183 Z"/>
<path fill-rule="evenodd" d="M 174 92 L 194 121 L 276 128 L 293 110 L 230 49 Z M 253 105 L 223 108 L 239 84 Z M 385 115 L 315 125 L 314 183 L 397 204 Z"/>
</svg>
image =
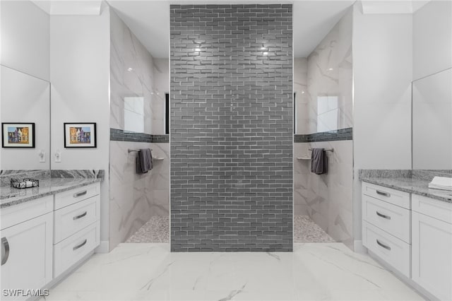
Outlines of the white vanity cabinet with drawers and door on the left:
<svg viewBox="0 0 452 301">
<path fill-rule="evenodd" d="M 2 294 L 47 288 L 99 244 L 100 183 L 2 208 Z"/>
</svg>

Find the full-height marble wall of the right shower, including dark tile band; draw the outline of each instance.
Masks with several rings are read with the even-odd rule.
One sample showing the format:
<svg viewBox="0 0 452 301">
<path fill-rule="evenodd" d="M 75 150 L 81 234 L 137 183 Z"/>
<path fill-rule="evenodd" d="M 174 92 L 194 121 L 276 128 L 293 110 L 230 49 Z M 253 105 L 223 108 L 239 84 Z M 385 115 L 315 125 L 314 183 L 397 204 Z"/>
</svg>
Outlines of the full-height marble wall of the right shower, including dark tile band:
<svg viewBox="0 0 452 301">
<path fill-rule="evenodd" d="M 304 111 L 294 146 L 295 215 L 310 216 L 334 240 L 352 247 L 352 12 L 307 59 L 295 62 L 297 106 Z M 310 157 L 309 148 L 334 150 L 327 152 L 326 175 L 312 173 L 310 160 L 296 159 Z"/>
</svg>

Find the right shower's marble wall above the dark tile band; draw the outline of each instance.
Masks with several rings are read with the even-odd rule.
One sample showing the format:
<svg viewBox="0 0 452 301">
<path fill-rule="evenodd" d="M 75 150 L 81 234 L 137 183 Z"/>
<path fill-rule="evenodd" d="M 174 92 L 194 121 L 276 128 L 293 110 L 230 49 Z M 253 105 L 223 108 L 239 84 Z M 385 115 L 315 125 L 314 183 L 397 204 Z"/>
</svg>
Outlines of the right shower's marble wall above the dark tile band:
<svg viewBox="0 0 452 301">
<path fill-rule="evenodd" d="M 297 119 L 302 125 L 297 134 L 352 127 L 352 11 L 309 54 L 305 94 L 305 119 Z M 319 102 L 325 103 L 320 111 Z"/>
</svg>

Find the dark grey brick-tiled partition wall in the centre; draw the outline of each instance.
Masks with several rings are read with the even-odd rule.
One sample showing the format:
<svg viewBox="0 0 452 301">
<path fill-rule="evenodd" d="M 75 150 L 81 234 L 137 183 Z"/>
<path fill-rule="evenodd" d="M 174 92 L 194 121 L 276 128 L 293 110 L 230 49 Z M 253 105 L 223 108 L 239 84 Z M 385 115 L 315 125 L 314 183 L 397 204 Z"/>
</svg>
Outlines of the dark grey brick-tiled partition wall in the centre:
<svg viewBox="0 0 452 301">
<path fill-rule="evenodd" d="M 292 251 L 292 5 L 174 5 L 170 45 L 172 251 Z"/>
</svg>

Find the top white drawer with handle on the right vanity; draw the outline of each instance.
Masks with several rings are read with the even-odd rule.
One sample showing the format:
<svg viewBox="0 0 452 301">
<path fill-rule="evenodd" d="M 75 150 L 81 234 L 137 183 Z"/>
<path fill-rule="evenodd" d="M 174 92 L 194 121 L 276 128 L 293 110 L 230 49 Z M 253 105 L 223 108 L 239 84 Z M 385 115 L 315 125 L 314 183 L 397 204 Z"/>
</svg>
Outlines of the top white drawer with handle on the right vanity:
<svg viewBox="0 0 452 301">
<path fill-rule="evenodd" d="M 362 194 L 410 209 L 410 194 L 405 191 L 362 182 Z"/>
</svg>

